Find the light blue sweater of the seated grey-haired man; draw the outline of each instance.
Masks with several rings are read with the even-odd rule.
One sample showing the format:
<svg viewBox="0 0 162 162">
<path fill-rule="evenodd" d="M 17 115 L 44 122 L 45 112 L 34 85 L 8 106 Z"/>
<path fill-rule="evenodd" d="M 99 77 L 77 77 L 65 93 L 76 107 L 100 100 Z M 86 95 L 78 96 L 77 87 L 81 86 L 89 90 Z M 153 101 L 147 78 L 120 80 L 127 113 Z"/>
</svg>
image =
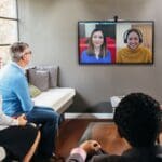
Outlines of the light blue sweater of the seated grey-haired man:
<svg viewBox="0 0 162 162">
<path fill-rule="evenodd" d="M 8 116 L 27 113 L 33 108 L 24 70 L 16 63 L 8 64 L 0 71 L 0 94 Z"/>
</svg>

